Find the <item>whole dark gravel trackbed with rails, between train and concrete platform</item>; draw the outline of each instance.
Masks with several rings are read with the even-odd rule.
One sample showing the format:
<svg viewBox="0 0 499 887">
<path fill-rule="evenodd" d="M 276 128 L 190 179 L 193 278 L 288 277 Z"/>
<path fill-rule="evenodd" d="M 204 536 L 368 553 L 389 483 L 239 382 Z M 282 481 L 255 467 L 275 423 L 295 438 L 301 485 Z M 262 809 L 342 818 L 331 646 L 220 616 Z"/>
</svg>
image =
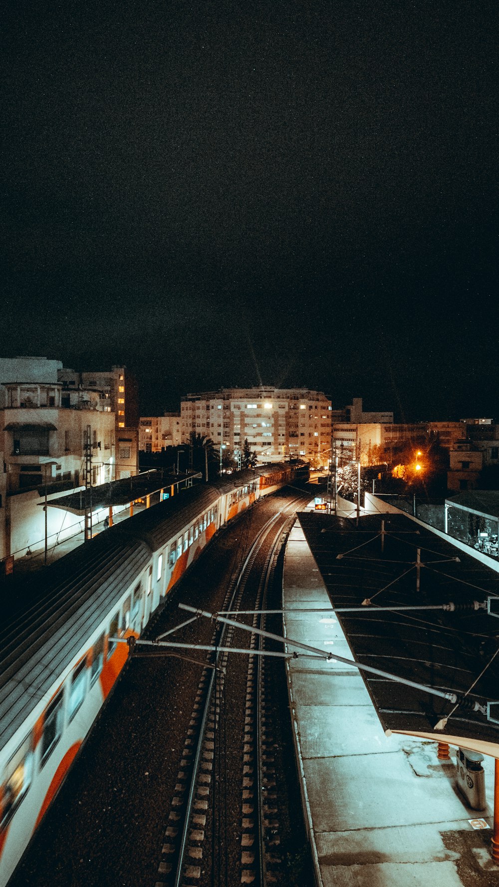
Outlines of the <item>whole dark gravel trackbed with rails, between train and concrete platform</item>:
<svg viewBox="0 0 499 887">
<path fill-rule="evenodd" d="M 9 887 L 313 883 L 285 660 L 178 608 L 279 607 L 285 538 L 309 498 L 285 489 L 253 506 L 168 595 L 144 640 L 215 645 L 217 668 L 213 652 L 136 644 Z"/>
</svg>

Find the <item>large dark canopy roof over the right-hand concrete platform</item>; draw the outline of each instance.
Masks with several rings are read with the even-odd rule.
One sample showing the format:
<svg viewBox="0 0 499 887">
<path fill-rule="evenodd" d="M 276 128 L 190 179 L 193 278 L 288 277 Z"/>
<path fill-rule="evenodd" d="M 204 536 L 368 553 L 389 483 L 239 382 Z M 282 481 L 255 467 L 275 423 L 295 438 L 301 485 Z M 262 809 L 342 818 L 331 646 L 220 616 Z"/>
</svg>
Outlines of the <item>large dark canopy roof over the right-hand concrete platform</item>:
<svg viewBox="0 0 499 887">
<path fill-rule="evenodd" d="M 385 731 L 499 757 L 499 619 L 473 604 L 497 598 L 495 570 L 402 514 L 365 516 L 358 526 L 355 520 L 335 515 L 298 516 L 333 608 L 361 608 L 335 614 L 352 658 L 457 695 L 452 703 L 425 689 L 361 671 Z M 454 612 L 423 609 L 449 602 L 456 605 Z M 422 609 L 382 609 L 402 606 Z M 487 715 L 472 710 L 475 701 L 486 710 L 487 703 L 497 704 Z"/>
</svg>

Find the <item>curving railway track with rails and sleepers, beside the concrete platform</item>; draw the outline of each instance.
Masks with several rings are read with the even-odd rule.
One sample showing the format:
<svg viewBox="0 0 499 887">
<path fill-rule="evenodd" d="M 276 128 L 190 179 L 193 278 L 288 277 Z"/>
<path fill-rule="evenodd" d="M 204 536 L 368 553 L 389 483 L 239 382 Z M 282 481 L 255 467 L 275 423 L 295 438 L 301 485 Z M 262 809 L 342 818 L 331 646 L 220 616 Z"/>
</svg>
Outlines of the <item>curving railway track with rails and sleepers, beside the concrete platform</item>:
<svg viewBox="0 0 499 887">
<path fill-rule="evenodd" d="M 230 584 L 224 611 L 265 608 L 294 506 L 261 529 Z M 255 612 L 251 624 L 262 628 L 264 620 Z M 265 663 L 266 655 L 276 654 L 271 644 L 260 635 L 214 624 L 214 652 L 207 655 L 191 712 L 156 887 L 285 883 L 266 678 L 271 670 Z"/>
</svg>

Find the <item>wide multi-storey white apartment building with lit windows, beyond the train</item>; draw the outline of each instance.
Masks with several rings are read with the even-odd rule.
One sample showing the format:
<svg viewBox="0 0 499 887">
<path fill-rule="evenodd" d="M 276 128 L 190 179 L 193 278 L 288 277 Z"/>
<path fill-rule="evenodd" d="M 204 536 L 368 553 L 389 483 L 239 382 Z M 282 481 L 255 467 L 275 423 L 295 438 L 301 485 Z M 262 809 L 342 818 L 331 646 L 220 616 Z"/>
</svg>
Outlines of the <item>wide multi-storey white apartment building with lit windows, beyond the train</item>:
<svg viewBox="0 0 499 887">
<path fill-rule="evenodd" d="M 236 458 L 247 439 L 261 462 L 288 458 L 327 465 L 331 457 L 331 401 L 322 391 L 220 389 L 182 399 L 183 441 L 191 432 L 210 437 Z"/>
</svg>

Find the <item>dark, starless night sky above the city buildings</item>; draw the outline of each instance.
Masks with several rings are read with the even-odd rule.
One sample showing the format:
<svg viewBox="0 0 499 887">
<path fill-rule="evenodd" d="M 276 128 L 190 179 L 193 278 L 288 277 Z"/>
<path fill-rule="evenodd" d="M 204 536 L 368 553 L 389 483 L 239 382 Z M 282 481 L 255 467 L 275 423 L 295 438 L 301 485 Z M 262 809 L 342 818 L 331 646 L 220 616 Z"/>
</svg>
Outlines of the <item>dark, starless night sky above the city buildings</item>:
<svg viewBox="0 0 499 887">
<path fill-rule="evenodd" d="M 0 353 L 494 416 L 499 6 L 7 3 Z"/>
</svg>

